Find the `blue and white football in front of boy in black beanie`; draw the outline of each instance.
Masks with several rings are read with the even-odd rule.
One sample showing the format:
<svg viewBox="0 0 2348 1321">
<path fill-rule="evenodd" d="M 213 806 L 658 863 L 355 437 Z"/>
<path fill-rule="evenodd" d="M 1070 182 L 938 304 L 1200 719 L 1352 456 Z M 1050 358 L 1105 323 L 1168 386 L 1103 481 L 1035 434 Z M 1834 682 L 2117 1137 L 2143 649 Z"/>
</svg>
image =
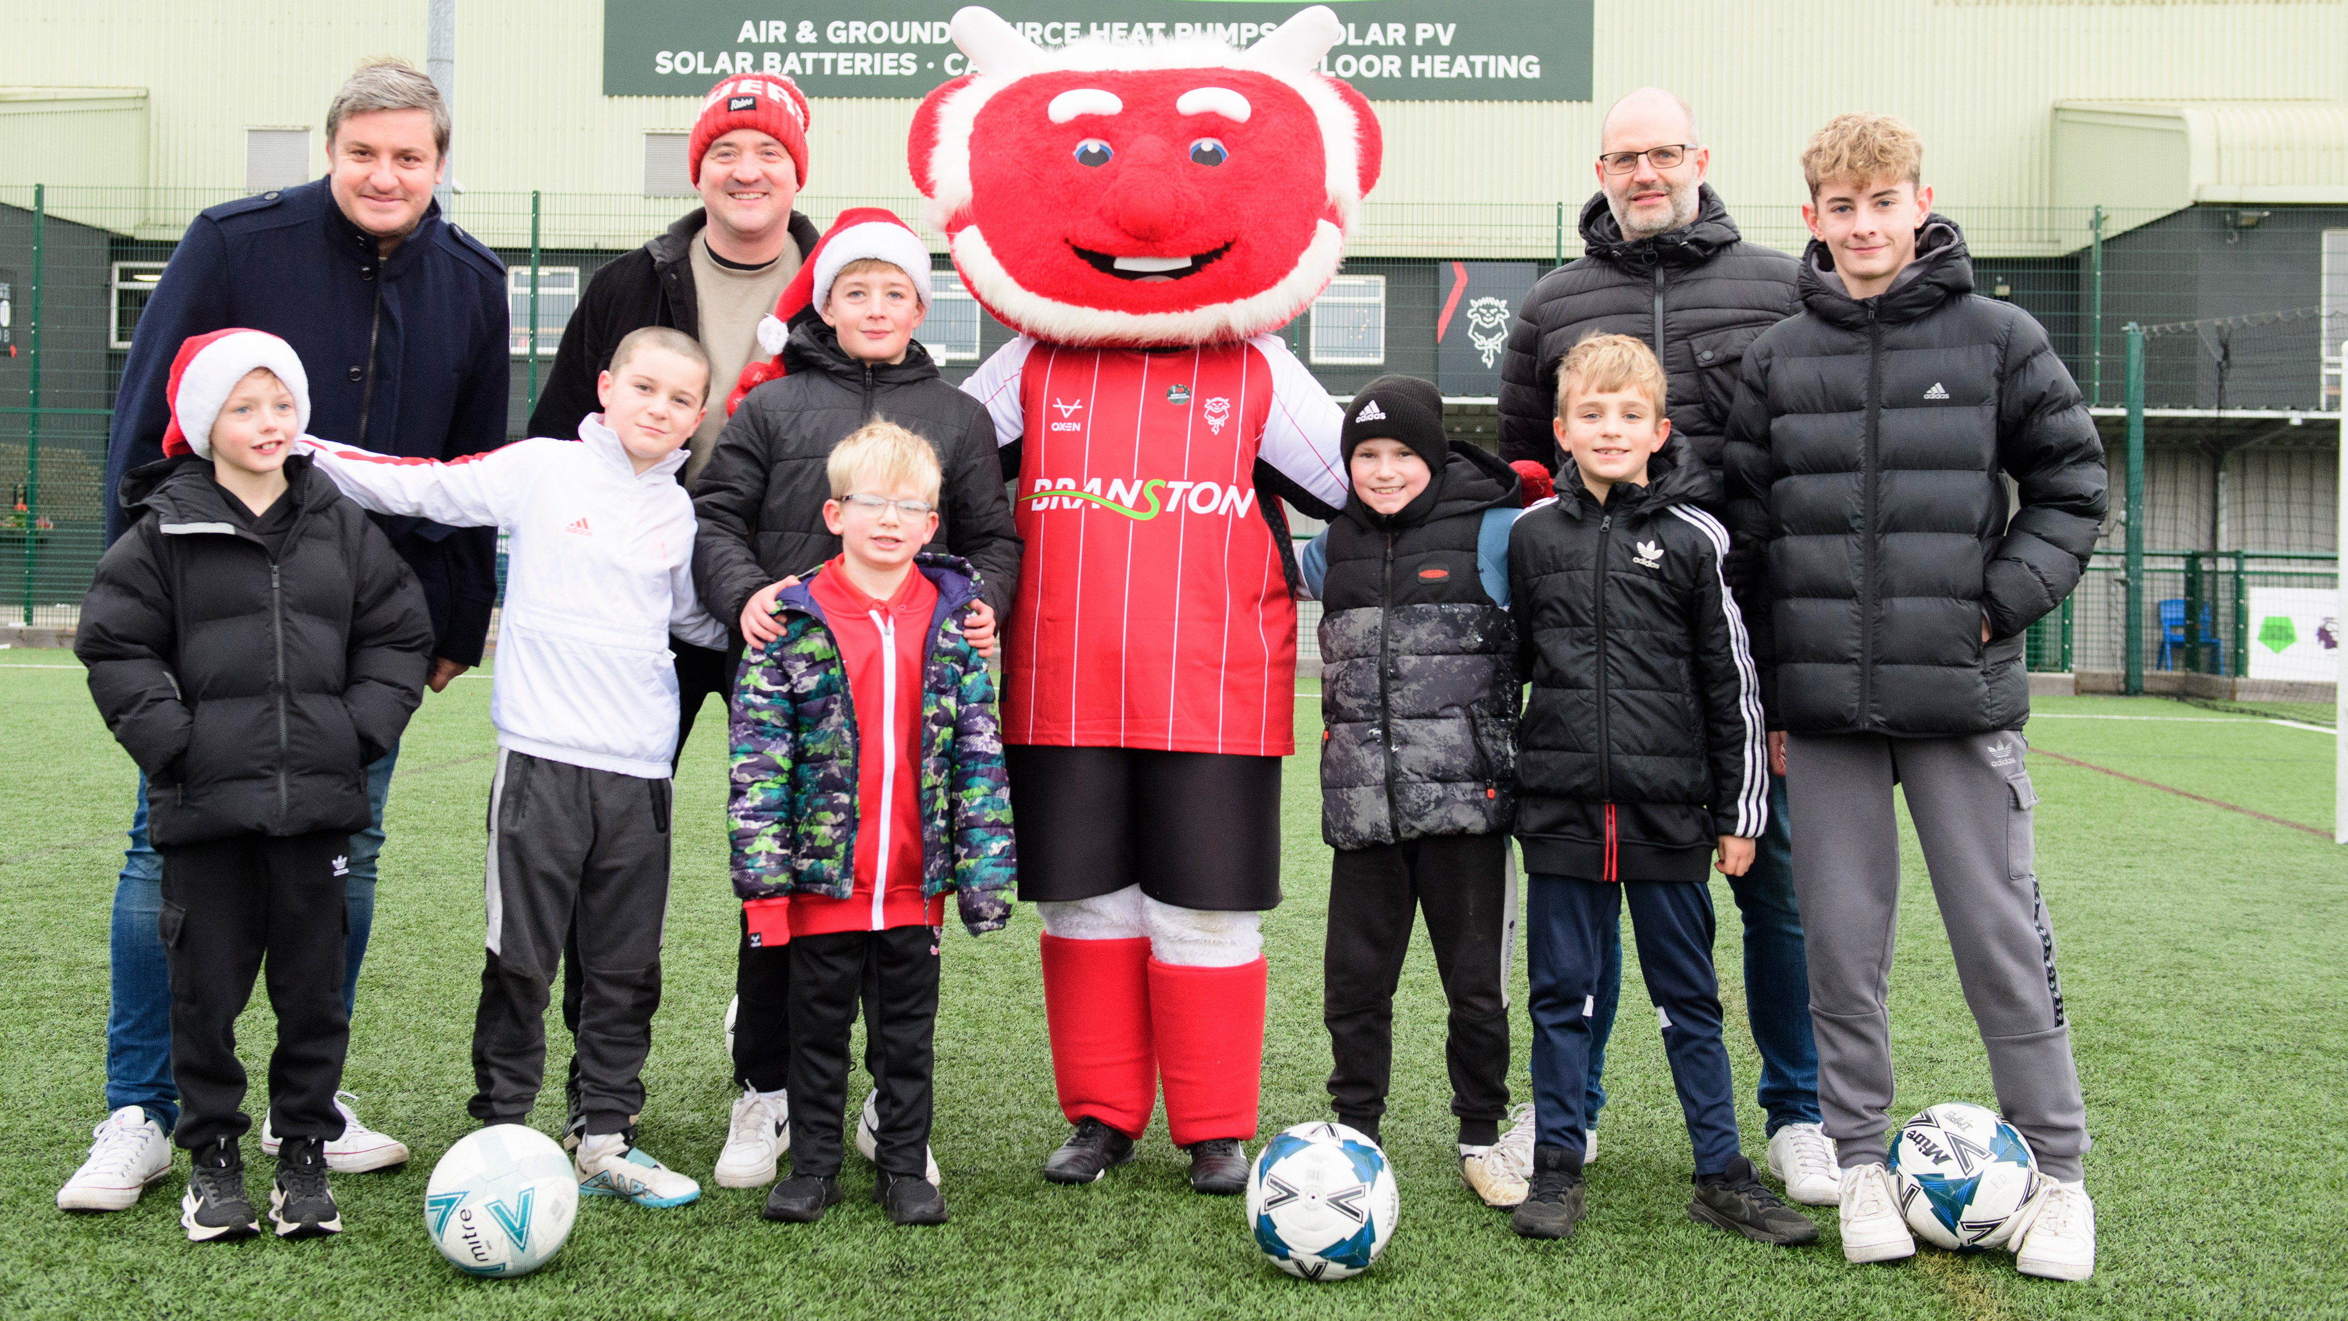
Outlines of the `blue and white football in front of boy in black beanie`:
<svg viewBox="0 0 2348 1321">
<path fill-rule="evenodd" d="M 1263 1143 L 1247 1173 L 1256 1246 L 1298 1279 L 1367 1272 L 1395 1237 L 1399 1211 L 1385 1152 L 1345 1124 L 1298 1124 Z"/>
</svg>

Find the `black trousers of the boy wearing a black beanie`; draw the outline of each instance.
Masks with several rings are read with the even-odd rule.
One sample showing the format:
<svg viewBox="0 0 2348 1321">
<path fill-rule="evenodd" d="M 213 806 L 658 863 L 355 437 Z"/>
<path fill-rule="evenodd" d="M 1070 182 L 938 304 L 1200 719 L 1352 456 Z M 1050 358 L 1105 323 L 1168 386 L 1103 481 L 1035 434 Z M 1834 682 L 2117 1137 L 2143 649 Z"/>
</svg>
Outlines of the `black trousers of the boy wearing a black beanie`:
<svg viewBox="0 0 2348 1321">
<path fill-rule="evenodd" d="M 1411 917 L 1428 915 L 1435 969 L 1451 1004 L 1444 1061 L 1460 1143 L 1491 1145 L 1507 1119 L 1507 835 L 1432 835 L 1338 849 L 1329 868 L 1322 1023 L 1329 1105 L 1341 1124 L 1378 1133 L 1395 1072 L 1395 985 Z"/>
</svg>

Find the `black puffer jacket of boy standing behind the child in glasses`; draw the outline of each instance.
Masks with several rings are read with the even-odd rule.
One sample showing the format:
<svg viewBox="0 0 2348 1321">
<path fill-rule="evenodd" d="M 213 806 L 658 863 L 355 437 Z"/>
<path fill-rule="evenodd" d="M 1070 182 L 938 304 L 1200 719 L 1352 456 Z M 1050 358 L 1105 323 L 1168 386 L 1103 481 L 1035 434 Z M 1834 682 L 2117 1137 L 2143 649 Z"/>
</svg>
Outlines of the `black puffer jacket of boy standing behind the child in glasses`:
<svg viewBox="0 0 2348 1321">
<path fill-rule="evenodd" d="M 782 366 L 780 380 L 742 397 L 693 486 L 693 584 L 709 612 L 740 634 L 742 605 L 758 589 L 841 554 L 841 540 L 824 530 L 824 462 L 880 418 L 937 448 L 944 486 L 930 549 L 967 558 L 996 617 L 1007 617 L 1019 530 L 986 406 L 946 385 L 920 343 L 906 345 L 904 361 L 866 364 L 819 319 L 791 326 Z"/>
</svg>

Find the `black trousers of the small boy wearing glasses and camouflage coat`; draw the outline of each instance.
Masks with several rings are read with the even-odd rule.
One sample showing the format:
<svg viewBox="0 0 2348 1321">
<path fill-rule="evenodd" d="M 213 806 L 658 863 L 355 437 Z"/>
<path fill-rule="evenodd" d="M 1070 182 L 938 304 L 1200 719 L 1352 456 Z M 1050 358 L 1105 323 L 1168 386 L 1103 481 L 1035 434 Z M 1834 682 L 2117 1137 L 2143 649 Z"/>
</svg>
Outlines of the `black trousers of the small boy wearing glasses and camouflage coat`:
<svg viewBox="0 0 2348 1321">
<path fill-rule="evenodd" d="M 864 1032 L 878 1042 L 880 1168 L 930 1168 L 930 1075 L 937 1065 L 937 927 L 791 936 L 791 1173 L 838 1176 L 848 1105 L 848 1028 L 866 969 L 876 995 Z M 747 1016 L 744 1004 L 744 1016 Z M 740 1035 L 740 1021 L 737 1021 Z M 873 1051 L 866 1049 L 866 1068 Z"/>
</svg>

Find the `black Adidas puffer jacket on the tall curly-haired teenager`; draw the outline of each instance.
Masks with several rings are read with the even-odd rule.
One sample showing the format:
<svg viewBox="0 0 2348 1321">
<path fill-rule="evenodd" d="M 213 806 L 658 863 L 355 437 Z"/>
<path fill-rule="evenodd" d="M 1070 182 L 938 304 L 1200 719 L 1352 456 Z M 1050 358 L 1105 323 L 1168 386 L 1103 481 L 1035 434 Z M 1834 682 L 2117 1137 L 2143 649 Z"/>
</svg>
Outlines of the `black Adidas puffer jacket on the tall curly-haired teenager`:
<svg viewBox="0 0 2348 1321">
<path fill-rule="evenodd" d="M 1730 523 L 1754 551 L 1738 591 L 1773 725 L 2019 727 L 2022 634 L 2078 587 L 2106 509 L 2078 385 L 2029 312 L 1972 293 L 1946 216 L 1925 218 L 1876 298 L 1853 298 L 1813 242 L 1801 298 L 1747 354 L 1728 429 Z"/>
</svg>

